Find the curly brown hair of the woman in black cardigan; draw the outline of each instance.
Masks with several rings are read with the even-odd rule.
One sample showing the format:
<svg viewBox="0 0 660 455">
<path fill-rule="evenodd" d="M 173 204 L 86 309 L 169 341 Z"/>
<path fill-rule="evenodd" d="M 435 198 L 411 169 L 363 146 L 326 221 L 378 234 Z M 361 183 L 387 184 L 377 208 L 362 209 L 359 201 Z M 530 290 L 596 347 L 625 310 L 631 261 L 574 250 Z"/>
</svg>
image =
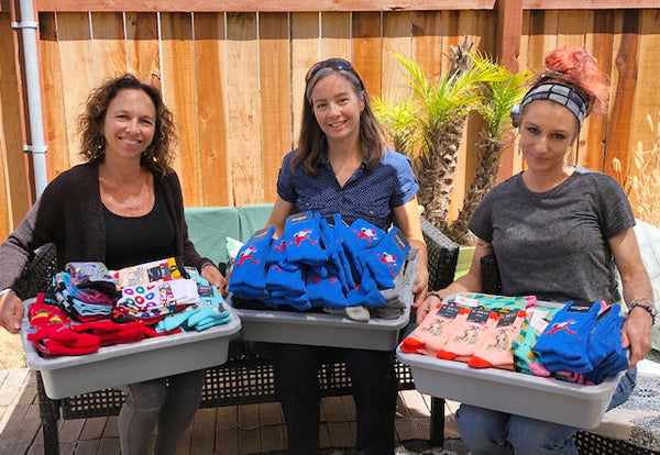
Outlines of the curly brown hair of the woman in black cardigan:
<svg viewBox="0 0 660 455">
<path fill-rule="evenodd" d="M 79 118 L 80 155 L 88 162 L 103 160 L 106 156 L 106 141 L 101 133 L 103 121 L 110 101 L 117 97 L 120 90 L 142 90 L 151 98 L 156 108 L 154 138 L 142 153 L 141 165 L 162 176 L 174 171 L 172 165 L 174 163 L 176 130 L 172 112 L 163 102 L 161 90 L 140 81 L 132 74 L 108 79 L 89 93 L 85 102 L 85 111 Z"/>
</svg>

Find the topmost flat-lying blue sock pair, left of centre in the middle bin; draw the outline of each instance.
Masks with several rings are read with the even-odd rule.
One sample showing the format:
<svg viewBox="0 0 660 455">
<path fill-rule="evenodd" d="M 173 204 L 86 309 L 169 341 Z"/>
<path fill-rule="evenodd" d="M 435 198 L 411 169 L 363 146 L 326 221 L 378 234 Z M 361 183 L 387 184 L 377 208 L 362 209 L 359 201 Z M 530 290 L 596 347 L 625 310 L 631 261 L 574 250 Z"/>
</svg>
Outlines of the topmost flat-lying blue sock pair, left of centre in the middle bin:
<svg viewBox="0 0 660 455">
<path fill-rule="evenodd" d="M 321 249 L 321 228 L 318 213 L 297 213 L 286 219 L 284 238 L 289 263 L 322 265 L 328 255 Z"/>
</svg>

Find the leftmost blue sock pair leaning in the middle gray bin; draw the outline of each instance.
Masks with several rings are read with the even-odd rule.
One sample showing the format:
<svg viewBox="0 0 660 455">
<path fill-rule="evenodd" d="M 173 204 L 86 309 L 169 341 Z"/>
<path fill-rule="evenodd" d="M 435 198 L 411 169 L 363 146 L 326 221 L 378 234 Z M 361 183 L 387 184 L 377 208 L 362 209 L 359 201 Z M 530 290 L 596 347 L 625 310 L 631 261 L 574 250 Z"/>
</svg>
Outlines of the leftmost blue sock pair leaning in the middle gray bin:
<svg viewBox="0 0 660 455">
<path fill-rule="evenodd" d="M 229 279 L 229 290 L 241 299 L 267 300 L 266 257 L 275 228 L 257 231 L 239 251 Z"/>
</svg>

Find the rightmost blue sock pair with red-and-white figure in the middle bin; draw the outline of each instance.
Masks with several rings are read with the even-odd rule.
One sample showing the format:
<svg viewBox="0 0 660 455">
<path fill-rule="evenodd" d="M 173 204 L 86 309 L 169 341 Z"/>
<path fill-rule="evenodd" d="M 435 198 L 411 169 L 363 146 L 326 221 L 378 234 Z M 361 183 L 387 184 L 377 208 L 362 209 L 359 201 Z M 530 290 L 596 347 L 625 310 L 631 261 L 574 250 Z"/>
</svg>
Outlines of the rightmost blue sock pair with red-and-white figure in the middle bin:
<svg viewBox="0 0 660 455">
<path fill-rule="evenodd" d="M 394 288 L 394 278 L 404 265 L 409 249 L 410 245 L 404 234 L 392 228 L 387 235 L 369 251 L 369 255 L 363 256 L 374 280 L 382 289 Z"/>
</svg>

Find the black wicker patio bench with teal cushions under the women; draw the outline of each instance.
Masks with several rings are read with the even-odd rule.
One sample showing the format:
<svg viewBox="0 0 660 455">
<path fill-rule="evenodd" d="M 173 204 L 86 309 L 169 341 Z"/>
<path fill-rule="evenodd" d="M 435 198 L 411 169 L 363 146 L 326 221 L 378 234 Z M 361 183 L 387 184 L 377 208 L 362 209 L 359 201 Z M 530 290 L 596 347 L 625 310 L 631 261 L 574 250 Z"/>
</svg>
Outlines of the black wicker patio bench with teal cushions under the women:
<svg viewBox="0 0 660 455">
<path fill-rule="evenodd" d="M 227 249 L 224 236 L 234 236 L 245 241 L 256 229 L 265 224 L 272 204 L 256 204 L 245 208 L 193 208 L 186 209 L 189 235 L 197 249 L 222 265 Z M 234 218 L 234 214 L 238 218 Z M 265 217 L 265 218 L 264 218 Z M 440 231 L 422 219 L 422 231 L 429 255 L 429 289 L 448 286 L 454 275 L 459 248 Z M 219 240 L 222 240 L 219 242 Z M 24 298 L 33 297 L 50 286 L 55 273 L 55 248 L 53 245 L 41 247 L 34 259 L 25 267 L 18 290 Z M 400 363 L 395 365 L 400 390 L 415 389 L 409 367 Z M 319 371 L 321 395 L 350 395 L 351 381 L 345 364 L 340 360 L 322 365 Z M 37 396 L 44 453 L 59 453 L 58 420 L 87 419 L 119 414 L 124 396 L 120 390 L 106 389 L 82 393 L 64 399 L 51 399 L 46 396 L 40 371 L 36 371 Z M 200 408 L 265 403 L 277 401 L 273 366 L 265 358 L 250 352 L 245 344 L 232 341 L 229 360 L 206 370 Z M 444 401 L 433 398 L 431 407 L 431 441 L 442 445 Z"/>
</svg>

